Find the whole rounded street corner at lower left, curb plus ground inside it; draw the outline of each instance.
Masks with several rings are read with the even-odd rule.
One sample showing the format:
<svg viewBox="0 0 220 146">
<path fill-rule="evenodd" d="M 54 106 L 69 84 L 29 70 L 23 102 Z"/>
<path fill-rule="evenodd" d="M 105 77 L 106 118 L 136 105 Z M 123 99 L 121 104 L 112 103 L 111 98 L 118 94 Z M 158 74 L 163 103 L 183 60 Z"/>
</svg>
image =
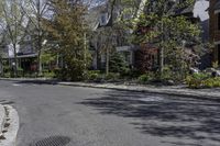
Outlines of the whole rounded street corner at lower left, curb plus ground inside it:
<svg viewBox="0 0 220 146">
<path fill-rule="evenodd" d="M 0 145 L 15 146 L 19 131 L 19 114 L 11 105 L 0 104 Z"/>
</svg>

